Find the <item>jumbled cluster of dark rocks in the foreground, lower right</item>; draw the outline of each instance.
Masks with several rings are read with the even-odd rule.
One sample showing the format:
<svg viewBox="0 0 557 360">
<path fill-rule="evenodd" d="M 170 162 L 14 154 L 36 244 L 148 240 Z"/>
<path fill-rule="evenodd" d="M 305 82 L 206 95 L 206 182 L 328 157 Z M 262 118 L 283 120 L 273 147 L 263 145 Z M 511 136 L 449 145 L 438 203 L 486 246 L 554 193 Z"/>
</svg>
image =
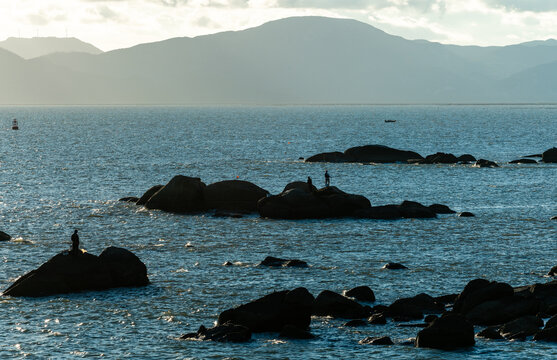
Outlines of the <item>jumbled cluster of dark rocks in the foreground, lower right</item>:
<svg viewBox="0 0 557 360">
<path fill-rule="evenodd" d="M 367 286 L 344 292 L 330 290 L 314 297 L 307 289 L 273 292 L 222 312 L 217 325 L 183 335 L 182 339 L 244 342 L 252 333 L 274 332 L 280 337 L 311 339 L 311 316 L 348 319 L 343 326 L 379 326 L 391 319 L 423 323 L 400 324 L 423 328 L 414 340 L 399 342 L 416 347 L 452 350 L 474 346 L 476 337 L 557 341 L 557 281 L 513 288 L 484 279 L 470 281 L 460 294 L 431 297 L 418 294 L 392 304 L 369 306 L 375 294 Z M 427 314 L 427 316 L 425 316 Z M 543 318 L 553 317 L 545 323 Z M 425 316 L 425 318 L 424 318 Z M 477 335 L 474 326 L 486 326 Z M 542 329 L 543 327 L 543 329 Z M 393 345 L 388 336 L 367 337 L 360 344 Z"/>
</svg>

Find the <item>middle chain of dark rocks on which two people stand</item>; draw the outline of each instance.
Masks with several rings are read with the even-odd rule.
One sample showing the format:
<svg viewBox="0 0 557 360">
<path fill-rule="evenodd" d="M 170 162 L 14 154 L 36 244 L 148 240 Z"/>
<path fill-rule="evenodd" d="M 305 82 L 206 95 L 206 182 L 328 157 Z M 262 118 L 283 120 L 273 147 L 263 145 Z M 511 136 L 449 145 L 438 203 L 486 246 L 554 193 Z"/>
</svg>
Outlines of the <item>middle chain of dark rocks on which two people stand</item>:
<svg viewBox="0 0 557 360">
<path fill-rule="evenodd" d="M 446 205 L 424 206 L 414 201 L 398 205 L 371 206 L 370 201 L 349 194 L 335 186 L 317 189 L 306 182 L 292 182 L 277 195 L 247 181 L 229 180 L 206 186 L 199 178 L 178 175 L 164 186 L 149 189 L 141 198 L 121 201 L 135 202 L 148 209 L 175 213 L 196 213 L 217 210 L 214 216 L 241 217 L 238 212 L 258 212 L 273 219 L 323 219 L 352 217 L 359 219 L 393 220 L 402 218 L 435 218 L 437 214 L 455 213 Z M 233 213 L 223 213 L 232 211 Z"/>
</svg>

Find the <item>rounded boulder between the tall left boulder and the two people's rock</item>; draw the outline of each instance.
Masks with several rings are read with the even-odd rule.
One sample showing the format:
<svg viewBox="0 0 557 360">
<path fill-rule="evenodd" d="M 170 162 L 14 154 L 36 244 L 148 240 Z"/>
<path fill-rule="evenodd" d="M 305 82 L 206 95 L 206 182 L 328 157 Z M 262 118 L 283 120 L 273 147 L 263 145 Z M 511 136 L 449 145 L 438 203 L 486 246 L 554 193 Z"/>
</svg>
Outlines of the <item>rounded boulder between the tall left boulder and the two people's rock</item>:
<svg viewBox="0 0 557 360">
<path fill-rule="evenodd" d="M 257 211 L 257 201 L 269 194 L 267 190 L 243 180 L 226 180 L 204 188 L 205 208 L 228 211 Z"/>
</svg>

